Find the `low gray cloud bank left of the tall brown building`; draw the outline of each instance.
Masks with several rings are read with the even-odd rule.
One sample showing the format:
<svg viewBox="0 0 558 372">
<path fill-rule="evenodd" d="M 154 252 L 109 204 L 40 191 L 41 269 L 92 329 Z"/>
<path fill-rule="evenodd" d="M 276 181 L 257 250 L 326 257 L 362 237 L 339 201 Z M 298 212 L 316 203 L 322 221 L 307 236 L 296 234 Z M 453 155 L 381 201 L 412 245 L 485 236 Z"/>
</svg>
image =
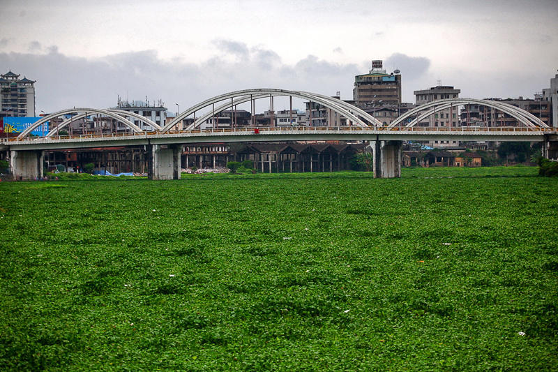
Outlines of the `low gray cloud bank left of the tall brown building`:
<svg viewBox="0 0 558 372">
<path fill-rule="evenodd" d="M 55 46 L 47 49 L 47 54 L 0 52 L 1 71 L 12 68 L 37 81 L 37 110 L 45 112 L 112 107 L 118 95 L 160 98 L 172 110 L 175 102 L 189 107 L 226 91 L 262 87 L 329 95 L 340 90 L 349 99 L 359 73 L 356 65 L 331 64 L 314 56 L 285 64 L 276 52 L 261 47 L 250 48 L 244 61 L 213 57 L 199 64 L 164 61 L 153 50 L 85 59 L 61 54 Z"/>
</svg>

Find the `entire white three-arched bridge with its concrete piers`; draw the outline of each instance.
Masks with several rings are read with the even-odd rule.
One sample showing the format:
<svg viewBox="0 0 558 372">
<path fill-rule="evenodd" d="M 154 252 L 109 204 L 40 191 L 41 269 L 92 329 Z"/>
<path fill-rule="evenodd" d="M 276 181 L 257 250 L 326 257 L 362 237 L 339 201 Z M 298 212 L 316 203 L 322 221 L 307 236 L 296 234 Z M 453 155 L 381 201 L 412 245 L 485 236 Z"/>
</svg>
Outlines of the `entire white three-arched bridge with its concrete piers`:
<svg viewBox="0 0 558 372">
<path fill-rule="evenodd" d="M 292 98 L 301 98 L 308 100 L 313 103 L 317 103 L 326 107 L 329 110 L 329 126 L 326 128 L 274 128 L 275 124 L 273 121 L 273 100 L 276 97 L 286 96 L 290 98 L 290 114 L 292 119 Z M 270 103 L 270 127 L 269 128 L 258 128 L 254 120 L 253 113 L 255 112 L 255 101 L 260 99 L 269 99 Z M 237 131 L 236 133 L 225 133 L 223 130 L 223 135 L 219 137 L 219 131 L 215 128 L 217 115 L 225 110 L 231 110 L 231 124 L 234 124 L 232 112 L 236 111 L 237 105 L 242 105 L 245 103 L 250 103 L 250 109 L 252 112 L 251 125 L 250 128 L 254 133 L 262 132 L 267 133 L 269 131 L 269 137 L 247 135 L 246 128 L 244 133 Z M 498 110 L 499 112 L 504 112 L 522 124 L 525 131 L 517 130 L 518 128 L 513 128 L 513 135 L 511 133 L 504 133 L 504 128 L 421 128 L 417 127 L 417 124 L 424 119 L 430 117 L 430 115 L 436 114 L 442 110 L 456 110 L 458 112 L 460 106 L 468 105 L 483 105 L 490 107 L 490 110 Z M 196 117 L 197 112 L 205 110 L 205 113 Z M 70 117 L 68 118 L 68 115 Z M 100 116 L 102 118 L 113 119 L 114 121 L 123 124 L 126 131 L 133 135 L 134 140 L 130 141 L 130 137 L 112 137 L 107 140 L 107 136 L 103 137 L 100 135 L 99 138 L 95 138 L 91 135 L 91 138 L 87 137 L 84 139 L 80 136 L 80 140 L 72 140 L 61 138 L 56 135 L 59 133 L 60 128 L 64 128 L 73 122 L 90 118 L 94 115 Z M 191 117 L 193 116 L 193 119 Z M 59 121 L 61 117 L 64 117 L 62 121 Z M 140 126 L 135 124 L 135 121 L 140 121 L 144 126 L 148 127 L 148 131 L 144 131 Z M 190 119 L 190 124 L 185 128 L 181 128 L 183 120 Z M 31 132 L 38 128 L 41 124 L 48 121 L 59 121 L 56 128 L 52 128 L 47 135 L 45 135 L 44 140 L 36 137 L 29 137 Z M 213 123 L 213 128 L 208 130 L 200 130 L 202 124 L 207 122 Z M 333 123 L 333 121 L 335 121 Z M 344 126 L 342 125 L 345 124 Z M 335 125 L 332 125 L 335 124 Z M 290 129 L 290 130 L 289 130 Z M 324 133 L 319 131 L 324 129 Z M 508 128 L 509 129 L 509 128 Z M 216 136 L 219 140 L 227 141 L 259 141 L 259 140 L 323 140 L 323 139 L 336 139 L 336 140 L 370 140 L 370 147 L 374 153 L 374 165 L 375 165 L 375 175 L 377 177 L 399 177 L 400 175 L 400 161 L 401 161 L 401 144 L 402 140 L 431 140 L 433 138 L 448 138 L 456 137 L 459 140 L 484 140 L 481 137 L 484 135 L 489 135 L 488 131 L 494 131 L 491 135 L 504 135 L 507 137 L 499 137 L 499 140 L 518 140 L 519 135 L 523 135 L 521 140 L 534 140 L 535 135 L 537 138 L 541 137 L 543 132 L 548 132 L 552 129 L 548 128 L 541 119 L 538 119 L 533 114 L 522 110 L 518 107 L 508 105 L 507 103 L 502 103 L 500 101 L 488 101 L 488 100 L 478 100 L 474 98 L 451 98 L 442 99 L 439 101 L 432 101 L 418 107 L 414 107 L 405 114 L 402 114 L 398 119 L 393 121 L 393 123 L 388 126 L 384 126 L 375 117 L 372 117 L 368 112 L 361 110 L 345 101 L 341 101 L 338 98 L 332 98 L 329 96 L 324 96 L 322 94 L 311 93 L 307 91 L 291 91 L 286 89 L 245 89 L 239 91 L 232 91 L 225 94 L 220 94 L 212 98 L 208 98 L 205 101 L 197 103 L 187 110 L 179 113 L 176 118 L 169 121 L 167 124 L 158 125 L 142 117 L 139 114 L 133 112 L 117 110 L 117 109 L 96 109 L 96 108 L 70 108 L 66 110 L 61 110 L 49 114 L 41 118 L 36 123 L 32 124 L 26 128 L 14 141 L 6 143 L 10 147 L 10 165 L 12 165 L 14 174 L 17 174 L 17 170 L 22 170 L 19 172 L 23 177 L 33 178 L 37 177 L 38 174 L 42 174 L 43 170 L 41 166 L 36 166 L 40 163 L 41 154 L 25 154 L 24 149 L 34 149 L 34 151 L 44 151 L 45 149 L 52 148 L 63 148 L 63 146 L 75 147 L 91 147 L 93 144 L 96 146 L 106 146 L 107 143 L 111 143 L 113 146 L 115 142 L 119 142 L 124 145 L 130 144 L 144 144 L 151 147 L 151 159 L 153 163 L 153 175 L 152 178 L 158 179 L 168 179 L 168 178 L 179 178 L 180 170 L 180 156 L 177 154 L 179 151 L 179 144 L 193 142 L 204 142 L 204 141 L 215 141 Z M 234 128 L 233 128 L 234 131 Z M 283 133 L 285 132 L 285 133 Z M 312 132 L 312 133 L 310 133 Z M 358 132 L 358 133 L 357 133 Z M 525 132 L 525 133 L 523 133 Z M 356 133 L 356 134 L 355 134 Z M 126 133 L 124 133 L 126 134 Z M 225 135 L 226 134 L 226 135 Z M 252 133 L 253 134 L 253 133 Z M 114 135 L 114 134 L 113 134 Z M 28 144 L 29 140 L 35 140 L 33 144 Z M 39 141 L 37 141 L 39 140 Z M 537 139 L 540 140 L 540 139 Z M 170 144 L 167 147 L 167 144 Z M 58 147 L 56 147 L 58 146 Z M 548 148 L 548 147 L 547 147 Z M 20 154 L 18 154 L 20 153 Z M 30 156 L 31 160 L 27 158 Z M 20 158 L 17 161 L 17 158 Z M 176 163 L 178 159 L 178 164 Z M 29 167 L 25 164 L 35 164 Z M 168 163 L 169 166 L 163 167 L 163 163 Z M 26 170 L 30 168 L 31 170 Z M 165 168 L 158 172 L 156 168 Z"/>
</svg>

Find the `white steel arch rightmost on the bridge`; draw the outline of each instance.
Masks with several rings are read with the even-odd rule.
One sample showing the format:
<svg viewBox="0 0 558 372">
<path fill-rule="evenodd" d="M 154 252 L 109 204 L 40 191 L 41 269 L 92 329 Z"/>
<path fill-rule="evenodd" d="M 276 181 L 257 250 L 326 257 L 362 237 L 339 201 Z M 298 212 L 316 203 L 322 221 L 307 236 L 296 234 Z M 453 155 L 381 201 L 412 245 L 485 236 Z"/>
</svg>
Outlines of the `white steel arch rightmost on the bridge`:
<svg viewBox="0 0 558 372">
<path fill-rule="evenodd" d="M 423 105 L 415 107 L 412 110 L 409 110 L 408 112 L 405 112 L 405 114 L 401 115 L 400 117 L 398 117 L 398 119 L 393 121 L 393 123 L 391 123 L 388 126 L 388 128 L 393 128 L 395 126 L 398 126 L 399 124 L 405 122 L 405 120 L 409 119 L 409 117 L 413 117 L 414 115 L 418 114 L 418 112 L 426 110 L 430 107 L 443 106 L 445 108 L 448 108 L 451 107 L 452 105 L 459 106 L 459 105 L 467 105 L 470 103 L 493 107 L 497 110 L 505 112 L 506 114 L 520 121 L 522 124 L 525 124 L 525 126 L 529 126 L 529 127 L 541 126 L 543 128 L 548 128 L 548 125 L 546 125 L 541 119 L 538 119 L 538 117 L 535 117 L 530 112 L 522 110 L 519 107 L 515 107 L 513 105 L 508 105 L 506 103 L 501 103 L 498 101 L 479 100 L 474 98 L 446 98 L 438 101 L 425 103 Z M 430 110 L 430 114 L 436 112 L 437 110 L 443 110 L 443 109 L 435 108 L 434 110 Z M 428 117 L 428 115 L 427 114 L 421 115 L 421 119 L 417 118 L 418 120 L 414 120 L 411 123 L 407 124 L 407 127 L 414 126 L 416 123 L 418 123 L 418 121 L 424 119 L 424 117 Z"/>
</svg>

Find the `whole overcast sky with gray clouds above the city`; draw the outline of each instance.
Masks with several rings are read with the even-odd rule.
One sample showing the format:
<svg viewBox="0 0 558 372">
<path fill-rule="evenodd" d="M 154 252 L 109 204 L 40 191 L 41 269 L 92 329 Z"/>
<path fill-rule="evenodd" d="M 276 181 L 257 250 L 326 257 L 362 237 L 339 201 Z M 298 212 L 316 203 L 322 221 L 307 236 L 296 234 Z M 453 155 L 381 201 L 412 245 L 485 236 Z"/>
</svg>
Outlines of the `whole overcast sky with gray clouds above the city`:
<svg viewBox="0 0 558 372">
<path fill-rule="evenodd" d="M 532 97 L 558 68 L 557 0 L 3 0 L 1 8 L 0 72 L 37 81 L 37 114 L 111 107 L 117 96 L 184 110 L 262 87 L 352 99 L 354 75 L 372 59 L 401 70 L 407 102 L 438 80 L 463 97 Z"/>
</svg>

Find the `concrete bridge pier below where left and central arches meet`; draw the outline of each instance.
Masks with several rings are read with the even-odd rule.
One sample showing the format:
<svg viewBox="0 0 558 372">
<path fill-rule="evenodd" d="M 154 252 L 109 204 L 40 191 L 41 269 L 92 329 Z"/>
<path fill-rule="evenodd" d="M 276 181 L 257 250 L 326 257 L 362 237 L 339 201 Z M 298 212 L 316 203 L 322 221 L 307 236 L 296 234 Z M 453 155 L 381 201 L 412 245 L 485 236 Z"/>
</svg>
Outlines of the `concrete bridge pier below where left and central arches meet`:
<svg viewBox="0 0 558 372">
<path fill-rule="evenodd" d="M 149 152 L 149 179 L 180 179 L 181 144 L 152 144 Z"/>
</svg>

